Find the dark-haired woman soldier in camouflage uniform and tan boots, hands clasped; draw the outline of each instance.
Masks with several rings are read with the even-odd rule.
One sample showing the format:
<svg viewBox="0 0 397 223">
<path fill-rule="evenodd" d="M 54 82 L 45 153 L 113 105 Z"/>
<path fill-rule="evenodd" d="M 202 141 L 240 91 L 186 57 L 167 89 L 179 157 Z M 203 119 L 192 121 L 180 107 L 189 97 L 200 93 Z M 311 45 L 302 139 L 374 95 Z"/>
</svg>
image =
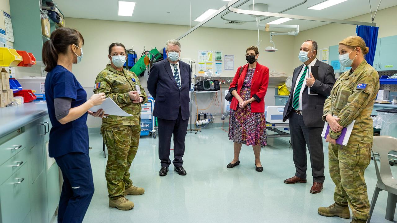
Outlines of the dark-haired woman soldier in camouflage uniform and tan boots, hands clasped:
<svg viewBox="0 0 397 223">
<path fill-rule="evenodd" d="M 132 185 L 129 168 L 138 150 L 141 133 L 141 104 L 146 93 L 135 73 L 123 69 L 127 52 L 121 43 L 109 46 L 110 64 L 96 77 L 94 92 L 105 93 L 121 109 L 133 115 L 121 117 L 109 115 L 102 120 L 101 133 L 108 148 L 106 181 L 108 183 L 109 206 L 119 210 L 130 210 L 134 203 L 124 196 L 143 194 L 143 188 Z"/>
</svg>

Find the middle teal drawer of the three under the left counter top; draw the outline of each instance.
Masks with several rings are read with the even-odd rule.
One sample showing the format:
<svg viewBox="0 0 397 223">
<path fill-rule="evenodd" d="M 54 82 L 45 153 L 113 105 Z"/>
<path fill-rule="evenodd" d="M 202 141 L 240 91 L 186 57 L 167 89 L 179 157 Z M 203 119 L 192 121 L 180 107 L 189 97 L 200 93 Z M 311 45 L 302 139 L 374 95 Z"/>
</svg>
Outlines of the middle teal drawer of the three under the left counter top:
<svg viewBox="0 0 397 223">
<path fill-rule="evenodd" d="M 28 150 L 28 148 L 23 148 L 21 152 L 17 153 L 0 166 L 0 184 L 6 181 L 27 162 Z"/>
</svg>

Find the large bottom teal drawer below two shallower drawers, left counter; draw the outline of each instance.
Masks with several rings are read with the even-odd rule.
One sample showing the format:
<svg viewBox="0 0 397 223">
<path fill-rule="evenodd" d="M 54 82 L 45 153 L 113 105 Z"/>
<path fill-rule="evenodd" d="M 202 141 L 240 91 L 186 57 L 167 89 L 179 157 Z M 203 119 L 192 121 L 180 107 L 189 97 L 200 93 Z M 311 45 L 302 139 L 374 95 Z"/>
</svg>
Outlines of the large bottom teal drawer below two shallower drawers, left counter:
<svg viewBox="0 0 397 223">
<path fill-rule="evenodd" d="M 26 163 L 0 186 L 0 197 L 2 222 L 23 222 L 30 211 Z"/>
</svg>

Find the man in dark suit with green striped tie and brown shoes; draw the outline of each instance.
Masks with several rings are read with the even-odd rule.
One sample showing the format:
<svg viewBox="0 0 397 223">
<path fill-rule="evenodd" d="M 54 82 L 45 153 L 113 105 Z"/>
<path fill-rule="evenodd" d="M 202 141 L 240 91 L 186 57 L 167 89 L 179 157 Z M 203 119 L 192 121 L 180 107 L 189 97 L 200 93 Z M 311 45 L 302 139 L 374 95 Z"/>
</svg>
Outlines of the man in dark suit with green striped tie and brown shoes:
<svg viewBox="0 0 397 223">
<path fill-rule="evenodd" d="M 310 193 L 321 192 L 324 183 L 324 152 L 322 145 L 323 107 L 335 84 L 335 73 L 327 63 L 316 59 L 317 42 L 306 40 L 301 46 L 299 60 L 303 65 L 295 68 L 289 99 L 284 108 L 283 121 L 289 120 L 295 176 L 284 183 L 306 183 L 306 145 L 310 154 L 313 186 Z M 318 78 L 312 69 L 318 67 Z"/>
</svg>

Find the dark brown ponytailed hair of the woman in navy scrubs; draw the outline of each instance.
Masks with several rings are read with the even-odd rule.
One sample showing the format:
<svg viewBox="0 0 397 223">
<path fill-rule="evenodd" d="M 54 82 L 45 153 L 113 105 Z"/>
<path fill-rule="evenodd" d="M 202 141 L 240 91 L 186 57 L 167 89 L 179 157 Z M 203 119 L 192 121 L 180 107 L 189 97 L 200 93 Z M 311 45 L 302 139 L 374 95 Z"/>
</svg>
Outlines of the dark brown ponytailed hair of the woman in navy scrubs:
<svg viewBox="0 0 397 223">
<path fill-rule="evenodd" d="M 49 72 L 58 63 L 59 54 L 67 54 L 69 45 L 79 45 L 79 41 L 84 45 L 84 38 L 81 33 L 75 29 L 59 28 L 51 33 L 50 40 L 43 44 L 42 58 L 43 63 L 46 65 L 45 71 Z"/>
</svg>

